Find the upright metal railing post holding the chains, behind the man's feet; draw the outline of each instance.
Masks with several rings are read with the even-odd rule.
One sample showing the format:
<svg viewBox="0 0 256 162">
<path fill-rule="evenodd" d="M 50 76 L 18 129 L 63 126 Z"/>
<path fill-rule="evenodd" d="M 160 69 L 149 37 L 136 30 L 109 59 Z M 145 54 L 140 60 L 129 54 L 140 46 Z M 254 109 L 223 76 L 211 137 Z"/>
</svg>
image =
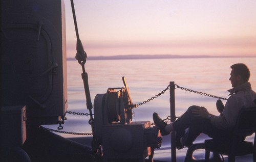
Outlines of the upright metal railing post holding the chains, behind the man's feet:
<svg viewBox="0 0 256 162">
<path fill-rule="evenodd" d="M 175 84 L 174 82 L 170 82 L 170 122 L 174 122 L 176 120 L 175 116 Z M 171 149 L 171 161 L 176 162 L 176 139 L 175 139 L 175 131 L 170 133 L 170 149 Z"/>
</svg>

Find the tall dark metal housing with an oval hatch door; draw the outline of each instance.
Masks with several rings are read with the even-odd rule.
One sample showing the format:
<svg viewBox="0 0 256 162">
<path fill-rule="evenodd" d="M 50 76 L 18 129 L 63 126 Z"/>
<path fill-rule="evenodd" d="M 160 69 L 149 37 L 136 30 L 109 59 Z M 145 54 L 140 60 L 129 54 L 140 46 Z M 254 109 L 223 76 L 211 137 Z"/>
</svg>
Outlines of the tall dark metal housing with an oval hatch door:
<svg viewBox="0 0 256 162">
<path fill-rule="evenodd" d="M 67 110 L 65 5 L 1 0 L 1 106 L 27 106 L 30 125 Z M 62 119 L 61 119 L 62 118 Z"/>
</svg>

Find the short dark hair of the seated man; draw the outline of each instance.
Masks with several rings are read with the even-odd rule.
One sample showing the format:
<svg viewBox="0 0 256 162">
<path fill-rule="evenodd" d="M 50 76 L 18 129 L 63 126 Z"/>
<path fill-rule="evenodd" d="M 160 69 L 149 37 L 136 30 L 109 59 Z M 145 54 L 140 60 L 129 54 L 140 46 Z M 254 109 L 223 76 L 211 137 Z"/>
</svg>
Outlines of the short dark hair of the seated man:
<svg viewBox="0 0 256 162">
<path fill-rule="evenodd" d="M 234 64 L 230 66 L 231 69 L 233 69 L 234 74 L 240 75 L 244 82 L 248 82 L 250 78 L 250 70 L 245 64 Z"/>
</svg>

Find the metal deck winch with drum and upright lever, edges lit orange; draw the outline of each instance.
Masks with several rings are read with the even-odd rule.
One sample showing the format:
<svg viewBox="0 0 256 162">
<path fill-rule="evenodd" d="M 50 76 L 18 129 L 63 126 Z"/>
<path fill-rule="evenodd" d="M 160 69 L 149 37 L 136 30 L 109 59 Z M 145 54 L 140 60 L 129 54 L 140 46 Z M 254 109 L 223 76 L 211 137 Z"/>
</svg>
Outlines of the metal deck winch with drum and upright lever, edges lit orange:
<svg viewBox="0 0 256 162">
<path fill-rule="evenodd" d="M 133 122 L 134 104 L 124 87 L 109 88 L 94 99 L 94 138 L 102 148 L 104 161 L 153 160 L 154 149 L 161 146 L 161 134 L 150 121 Z"/>
</svg>

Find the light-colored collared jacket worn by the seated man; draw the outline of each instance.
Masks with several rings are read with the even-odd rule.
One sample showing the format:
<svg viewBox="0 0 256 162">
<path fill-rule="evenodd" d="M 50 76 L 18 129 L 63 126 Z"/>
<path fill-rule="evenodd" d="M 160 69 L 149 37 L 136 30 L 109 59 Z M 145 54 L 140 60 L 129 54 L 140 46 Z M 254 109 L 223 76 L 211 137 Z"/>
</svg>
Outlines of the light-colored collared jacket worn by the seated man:
<svg viewBox="0 0 256 162">
<path fill-rule="evenodd" d="M 256 93 L 252 91 L 250 83 L 244 83 L 233 89 L 228 90 L 230 97 L 228 98 L 222 116 L 212 115 L 210 121 L 212 125 L 220 129 L 232 129 L 236 124 L 239 111 L 243 107 L 253 107 L 256 99 Z"/>
</svg>

